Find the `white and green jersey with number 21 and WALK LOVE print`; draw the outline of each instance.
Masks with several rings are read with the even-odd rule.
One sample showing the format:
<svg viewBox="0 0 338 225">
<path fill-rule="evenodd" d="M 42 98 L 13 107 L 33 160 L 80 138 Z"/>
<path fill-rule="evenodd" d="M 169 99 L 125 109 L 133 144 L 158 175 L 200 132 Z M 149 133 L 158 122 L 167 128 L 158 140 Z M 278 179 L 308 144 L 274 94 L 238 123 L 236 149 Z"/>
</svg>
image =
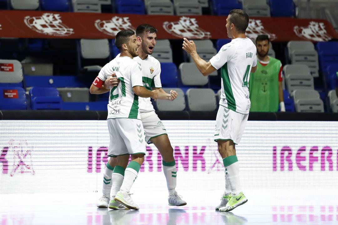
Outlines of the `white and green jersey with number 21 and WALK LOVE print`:
<svg viewBox="0 0 338 225">
<path fill-rule="evenodd" d="M 132 87 L 143 86 L 141 64 L 130 57 L 116 57 L 103 66 L 98 78 L 105 81 L 112 73 L 120 80 L 116 87 L 110 87 L 108 100 L 108 117 L 141 119 L 139 113 L 139 96 Z"/>
</svg>

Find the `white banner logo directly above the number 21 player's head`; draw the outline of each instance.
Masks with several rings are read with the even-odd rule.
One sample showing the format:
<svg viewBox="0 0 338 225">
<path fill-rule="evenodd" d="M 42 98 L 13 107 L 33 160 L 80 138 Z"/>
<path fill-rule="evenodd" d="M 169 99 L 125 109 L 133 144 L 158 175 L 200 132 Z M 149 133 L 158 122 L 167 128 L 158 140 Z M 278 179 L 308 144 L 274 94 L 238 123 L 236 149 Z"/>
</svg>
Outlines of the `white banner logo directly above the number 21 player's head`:
<svg viewBox="0 0 338 225">
<path fill-rule="evenodd" d="M 95 27 L 102 33 L 116 36 L 121 30 L 132 30 L 135 32 L 135 28 L 131 26 L 129 17 L 113 17 L 111 20 L 96 20 Z"/>
</svg>

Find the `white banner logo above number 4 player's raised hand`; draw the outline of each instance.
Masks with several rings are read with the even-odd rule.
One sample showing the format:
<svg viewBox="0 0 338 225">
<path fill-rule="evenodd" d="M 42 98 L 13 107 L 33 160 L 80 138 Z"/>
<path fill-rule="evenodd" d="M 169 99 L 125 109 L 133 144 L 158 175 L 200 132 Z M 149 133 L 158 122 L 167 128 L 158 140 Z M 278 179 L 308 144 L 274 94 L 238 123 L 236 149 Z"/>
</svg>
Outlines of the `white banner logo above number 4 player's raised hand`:
<svg viewBox="0 0 338 225">
<path fill-rule="evenodd" d="M 179 21 L 163 23 L 163 28 L 176 37 L 186 37 L 194 39 L 209 39 L 210 32 L 201 29 L 195 18 L 181 17 Z"/>
</svg>

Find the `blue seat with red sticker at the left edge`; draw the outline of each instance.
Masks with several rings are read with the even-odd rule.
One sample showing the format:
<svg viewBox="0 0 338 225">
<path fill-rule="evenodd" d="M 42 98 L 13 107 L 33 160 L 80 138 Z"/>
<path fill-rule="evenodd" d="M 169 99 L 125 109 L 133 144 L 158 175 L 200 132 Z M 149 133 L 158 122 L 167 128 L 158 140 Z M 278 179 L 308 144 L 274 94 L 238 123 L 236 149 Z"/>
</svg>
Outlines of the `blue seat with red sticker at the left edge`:
<svg viewBox="0 0 338 225">
<path fill-rule="evenodd" d="M 0 87 L 0 109 L 27 109 L 25 90 L 22 87 Z"/>
</svg>

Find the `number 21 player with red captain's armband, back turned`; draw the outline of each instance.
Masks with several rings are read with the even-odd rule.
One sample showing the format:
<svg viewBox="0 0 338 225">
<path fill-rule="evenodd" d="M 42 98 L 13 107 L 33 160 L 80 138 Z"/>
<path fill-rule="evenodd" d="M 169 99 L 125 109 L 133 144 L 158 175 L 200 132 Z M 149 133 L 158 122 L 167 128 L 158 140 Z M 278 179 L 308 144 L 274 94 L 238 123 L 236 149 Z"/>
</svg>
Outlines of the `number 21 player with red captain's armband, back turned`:
<svg viewBox="0 0 338 225">
<path fill-rule="evenodd" d="M 91 93 L 100 93 L 103 82 L 112 74 L 120 80 L 118 86 L 110 88 L 108 100 L 108 130 L 110 143 L 108 156 L 116 157 L 113 170 L 112 207 L 114 209 L 139 209 L 130 198 L 130 188 L 138 176 L 144 161 L 146 143 L 139 112 L 139 96 L 157 99 L 156 90 L 143 86 L 140 63 L 133 58 L 138 56 L 139 41 L 134 31 L 123 30 L 117 33 L 115 45 L 121 55 L 107 63 L 99 72 L 90 87 Z M 128 164 L 129 154 L 131 161 Z"/>
</svg>

